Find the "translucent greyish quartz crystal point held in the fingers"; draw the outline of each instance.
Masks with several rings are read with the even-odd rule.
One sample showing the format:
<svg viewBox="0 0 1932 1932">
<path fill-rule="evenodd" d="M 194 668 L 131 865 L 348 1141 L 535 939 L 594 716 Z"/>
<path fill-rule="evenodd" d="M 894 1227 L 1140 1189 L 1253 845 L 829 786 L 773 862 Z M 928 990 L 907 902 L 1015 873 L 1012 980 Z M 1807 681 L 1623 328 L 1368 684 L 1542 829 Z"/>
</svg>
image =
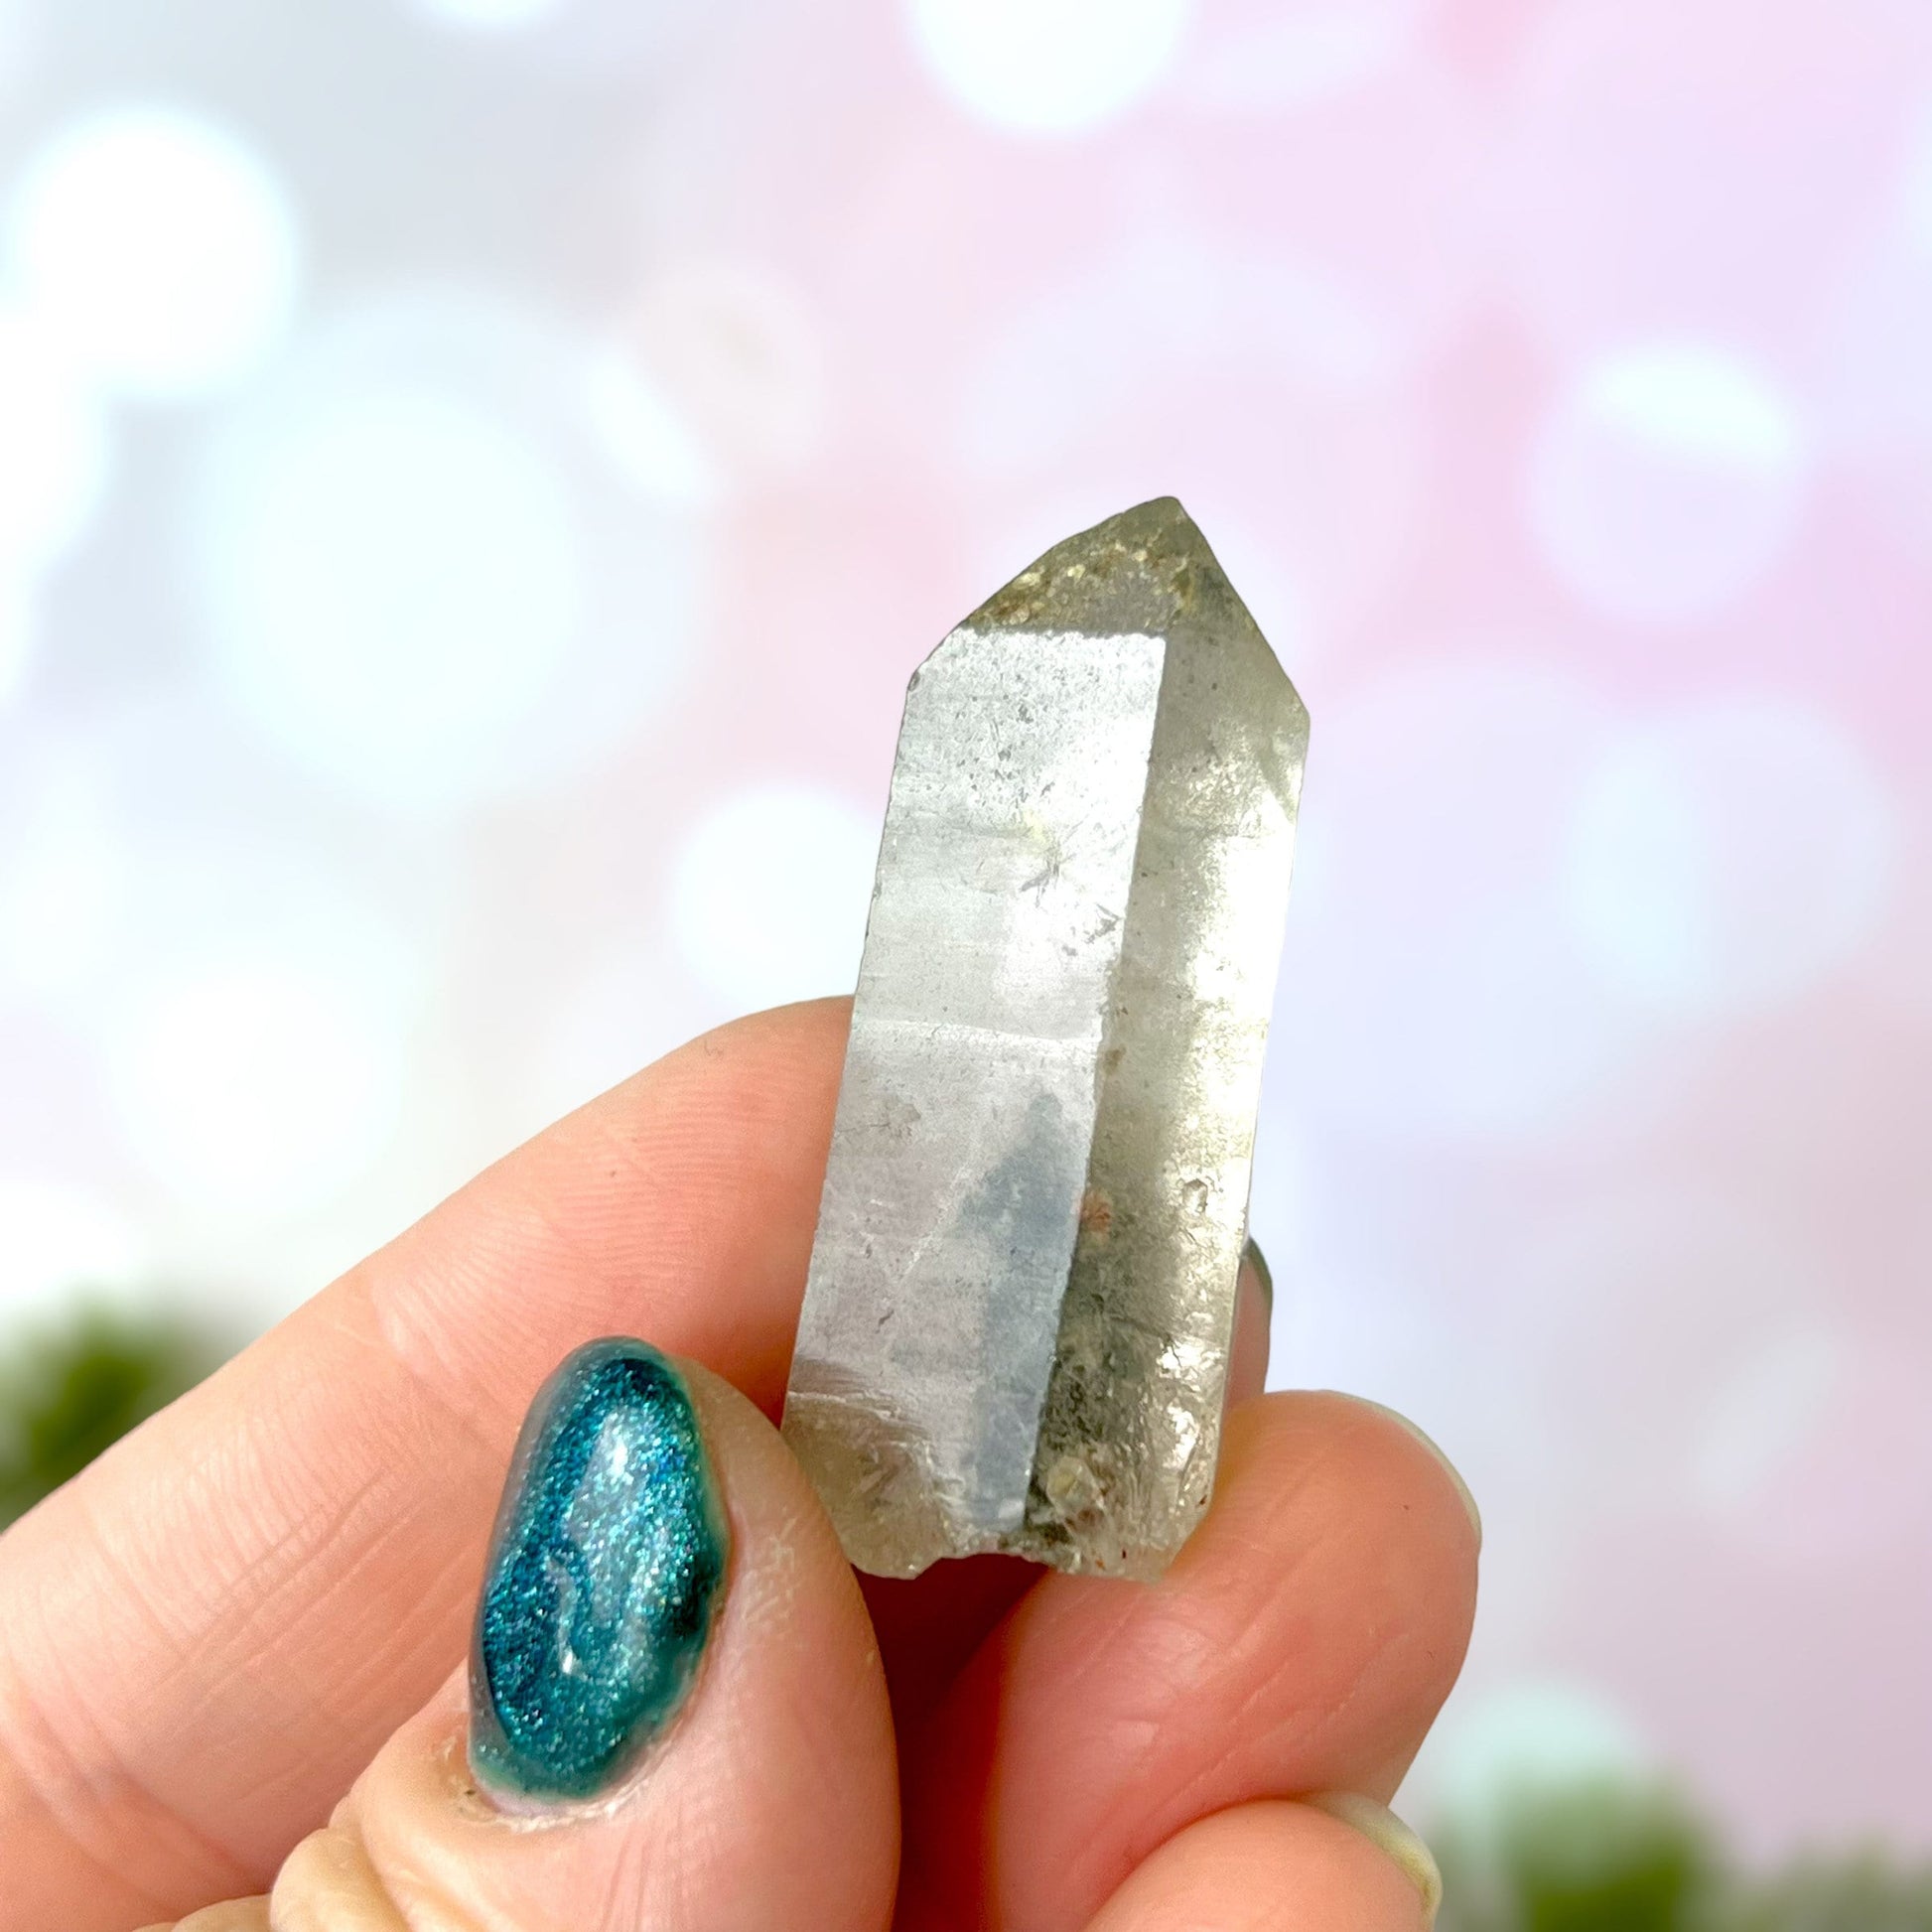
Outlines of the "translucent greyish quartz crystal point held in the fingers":
<svg viewBox="0 0 1932 1932">
<path fill-rule="evenodd" d="M 914 672 L 784 1406 L 860 1569 L 1206 1509 L 1306 746 L 1171 497 Z"/>
</svg>

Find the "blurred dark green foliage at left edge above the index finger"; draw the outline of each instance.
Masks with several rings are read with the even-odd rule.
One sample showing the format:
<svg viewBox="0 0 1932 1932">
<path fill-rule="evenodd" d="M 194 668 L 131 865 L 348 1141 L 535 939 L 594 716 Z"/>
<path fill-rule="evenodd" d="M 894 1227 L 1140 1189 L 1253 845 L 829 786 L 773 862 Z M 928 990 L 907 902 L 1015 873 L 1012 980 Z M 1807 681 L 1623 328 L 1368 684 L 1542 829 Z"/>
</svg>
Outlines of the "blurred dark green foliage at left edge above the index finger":
<svg viewBox="0 0 1932 1932">
<path fill-rule="evenodd" d="M 0 1350 L 0 1526 L 191 1389 L 226 1352 L 174 1316 L 85 1306 L 14 1337 Z"/>
</svg>

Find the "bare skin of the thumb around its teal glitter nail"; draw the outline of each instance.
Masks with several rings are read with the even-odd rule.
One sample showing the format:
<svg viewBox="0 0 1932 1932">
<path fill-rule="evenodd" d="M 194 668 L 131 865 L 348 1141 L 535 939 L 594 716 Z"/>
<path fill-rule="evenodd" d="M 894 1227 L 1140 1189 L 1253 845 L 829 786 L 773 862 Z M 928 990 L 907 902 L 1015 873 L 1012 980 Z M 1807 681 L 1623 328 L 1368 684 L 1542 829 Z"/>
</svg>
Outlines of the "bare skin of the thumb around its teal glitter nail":
<svg viewBox="0 0 1932 1932">
<path fill-rule="evenodd" d="M 572 1777 L 568 1789 L 504 1789 L 471 1774 L 483 1714 L 454 1675 L 377 1754 L 336 1820 L 402 1922 L 883 1932 L 891 1918 L 891 1714 L 850 1565 L 757 1408 L 707 1370 L 674 1366 L 728 1519 L 723 1596 L 688 1698 L 638 1752 L 609 1760 L 607 1787 Z M 601 1507 L 582 1492 L 578 1501 Z M 591 1578 L 595 1551 L 585 1563 Z M 549 1646 L 551 1658 L 578 1654 L 562 1627 Z"/>
</svg>

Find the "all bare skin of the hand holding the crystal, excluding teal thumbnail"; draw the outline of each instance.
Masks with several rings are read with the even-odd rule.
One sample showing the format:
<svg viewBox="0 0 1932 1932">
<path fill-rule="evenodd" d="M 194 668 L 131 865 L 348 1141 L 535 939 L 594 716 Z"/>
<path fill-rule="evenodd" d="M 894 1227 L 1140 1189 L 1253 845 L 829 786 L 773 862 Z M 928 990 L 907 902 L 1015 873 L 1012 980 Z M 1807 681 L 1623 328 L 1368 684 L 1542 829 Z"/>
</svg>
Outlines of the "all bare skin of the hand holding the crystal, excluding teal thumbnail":
<svg viewBox="0 0 1932 1932">
<path fill-rule="evenodd" d="M 0 1538 L 0 1932 L 1428 1922 L 1383 1806 L 1478 1524 L 1399 1418 L 1260 1393 L 1252 1275 L 1167 1578 L 860 1588 L 773 1428 L 844 1026 L 792 1007 L 638 1074 Z M 684 1358 L 732 1573 L 636 1777 L 531 1818 L 468 1777 L 462 1662 L 524 1408 L 603 1333 Z"/>
</svg>

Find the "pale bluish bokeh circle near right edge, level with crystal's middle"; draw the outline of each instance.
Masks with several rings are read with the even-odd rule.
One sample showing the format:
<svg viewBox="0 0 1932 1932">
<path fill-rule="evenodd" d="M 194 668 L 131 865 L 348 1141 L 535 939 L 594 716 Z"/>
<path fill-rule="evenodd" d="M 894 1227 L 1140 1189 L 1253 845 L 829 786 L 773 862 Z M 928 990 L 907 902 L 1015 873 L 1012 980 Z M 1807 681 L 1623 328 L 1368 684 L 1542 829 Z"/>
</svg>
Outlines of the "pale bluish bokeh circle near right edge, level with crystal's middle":
<svg viewBox="0 0 1932 1932">
<path fill-rule="evenodd" d="M 1731 697 L 1640 726 L 1588 777 L 1565 902 L 1619 993 L 1704 1018 L 1789 1001 L 1884 916 L 1897 815 L 1830 719 Z"/>
</svg>

